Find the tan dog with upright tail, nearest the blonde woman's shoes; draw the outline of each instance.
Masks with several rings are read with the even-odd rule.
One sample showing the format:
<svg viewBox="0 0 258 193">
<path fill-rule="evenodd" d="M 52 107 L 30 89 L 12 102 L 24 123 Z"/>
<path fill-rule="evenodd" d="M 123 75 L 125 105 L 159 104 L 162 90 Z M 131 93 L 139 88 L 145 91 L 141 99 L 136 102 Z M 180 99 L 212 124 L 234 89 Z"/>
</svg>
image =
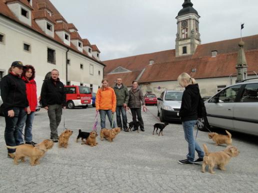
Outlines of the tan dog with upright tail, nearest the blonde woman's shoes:
<svg viewBox="0 0 258 193">
<path fill-rule="evenodd" d="M 239 154 L 239 151 L 234 146 L 227 146 L 224 151 L 221 152 L 212 152 L 209 153 L 207 146 L 203 144 L 203 149 L 205 156 L 203 158 L 203 163 L 201 167 L 201 172 L 205 172 L 205 167 L 208 165 L 208 170 L 210 174 L 215 174 L 213 168 L 215 166 L 218 169 L 225 171 L 225 165 L 229 162 L 232 157 L 236 157 Z"/>
</svg>

